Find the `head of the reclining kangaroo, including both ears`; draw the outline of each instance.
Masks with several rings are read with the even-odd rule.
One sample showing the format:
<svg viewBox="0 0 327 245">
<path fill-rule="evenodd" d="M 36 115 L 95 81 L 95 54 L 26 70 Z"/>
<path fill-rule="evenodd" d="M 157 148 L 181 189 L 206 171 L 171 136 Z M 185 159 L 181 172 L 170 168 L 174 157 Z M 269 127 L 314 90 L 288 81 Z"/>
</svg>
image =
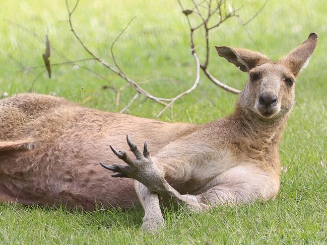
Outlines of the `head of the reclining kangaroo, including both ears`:
<svg viewBox="0 0 327 245">
<path fill-rule="evenodd" d="M 317 44 L 311 33 L 300 46 L 278 61 L 247 49 L 217 47 L 219 56 L 248 72 L 248 82 L 239 105 L 261 118 L 271 119 L 286 114 L 294 104 L 295 79 L 306 67 Z"/>
</svg>

